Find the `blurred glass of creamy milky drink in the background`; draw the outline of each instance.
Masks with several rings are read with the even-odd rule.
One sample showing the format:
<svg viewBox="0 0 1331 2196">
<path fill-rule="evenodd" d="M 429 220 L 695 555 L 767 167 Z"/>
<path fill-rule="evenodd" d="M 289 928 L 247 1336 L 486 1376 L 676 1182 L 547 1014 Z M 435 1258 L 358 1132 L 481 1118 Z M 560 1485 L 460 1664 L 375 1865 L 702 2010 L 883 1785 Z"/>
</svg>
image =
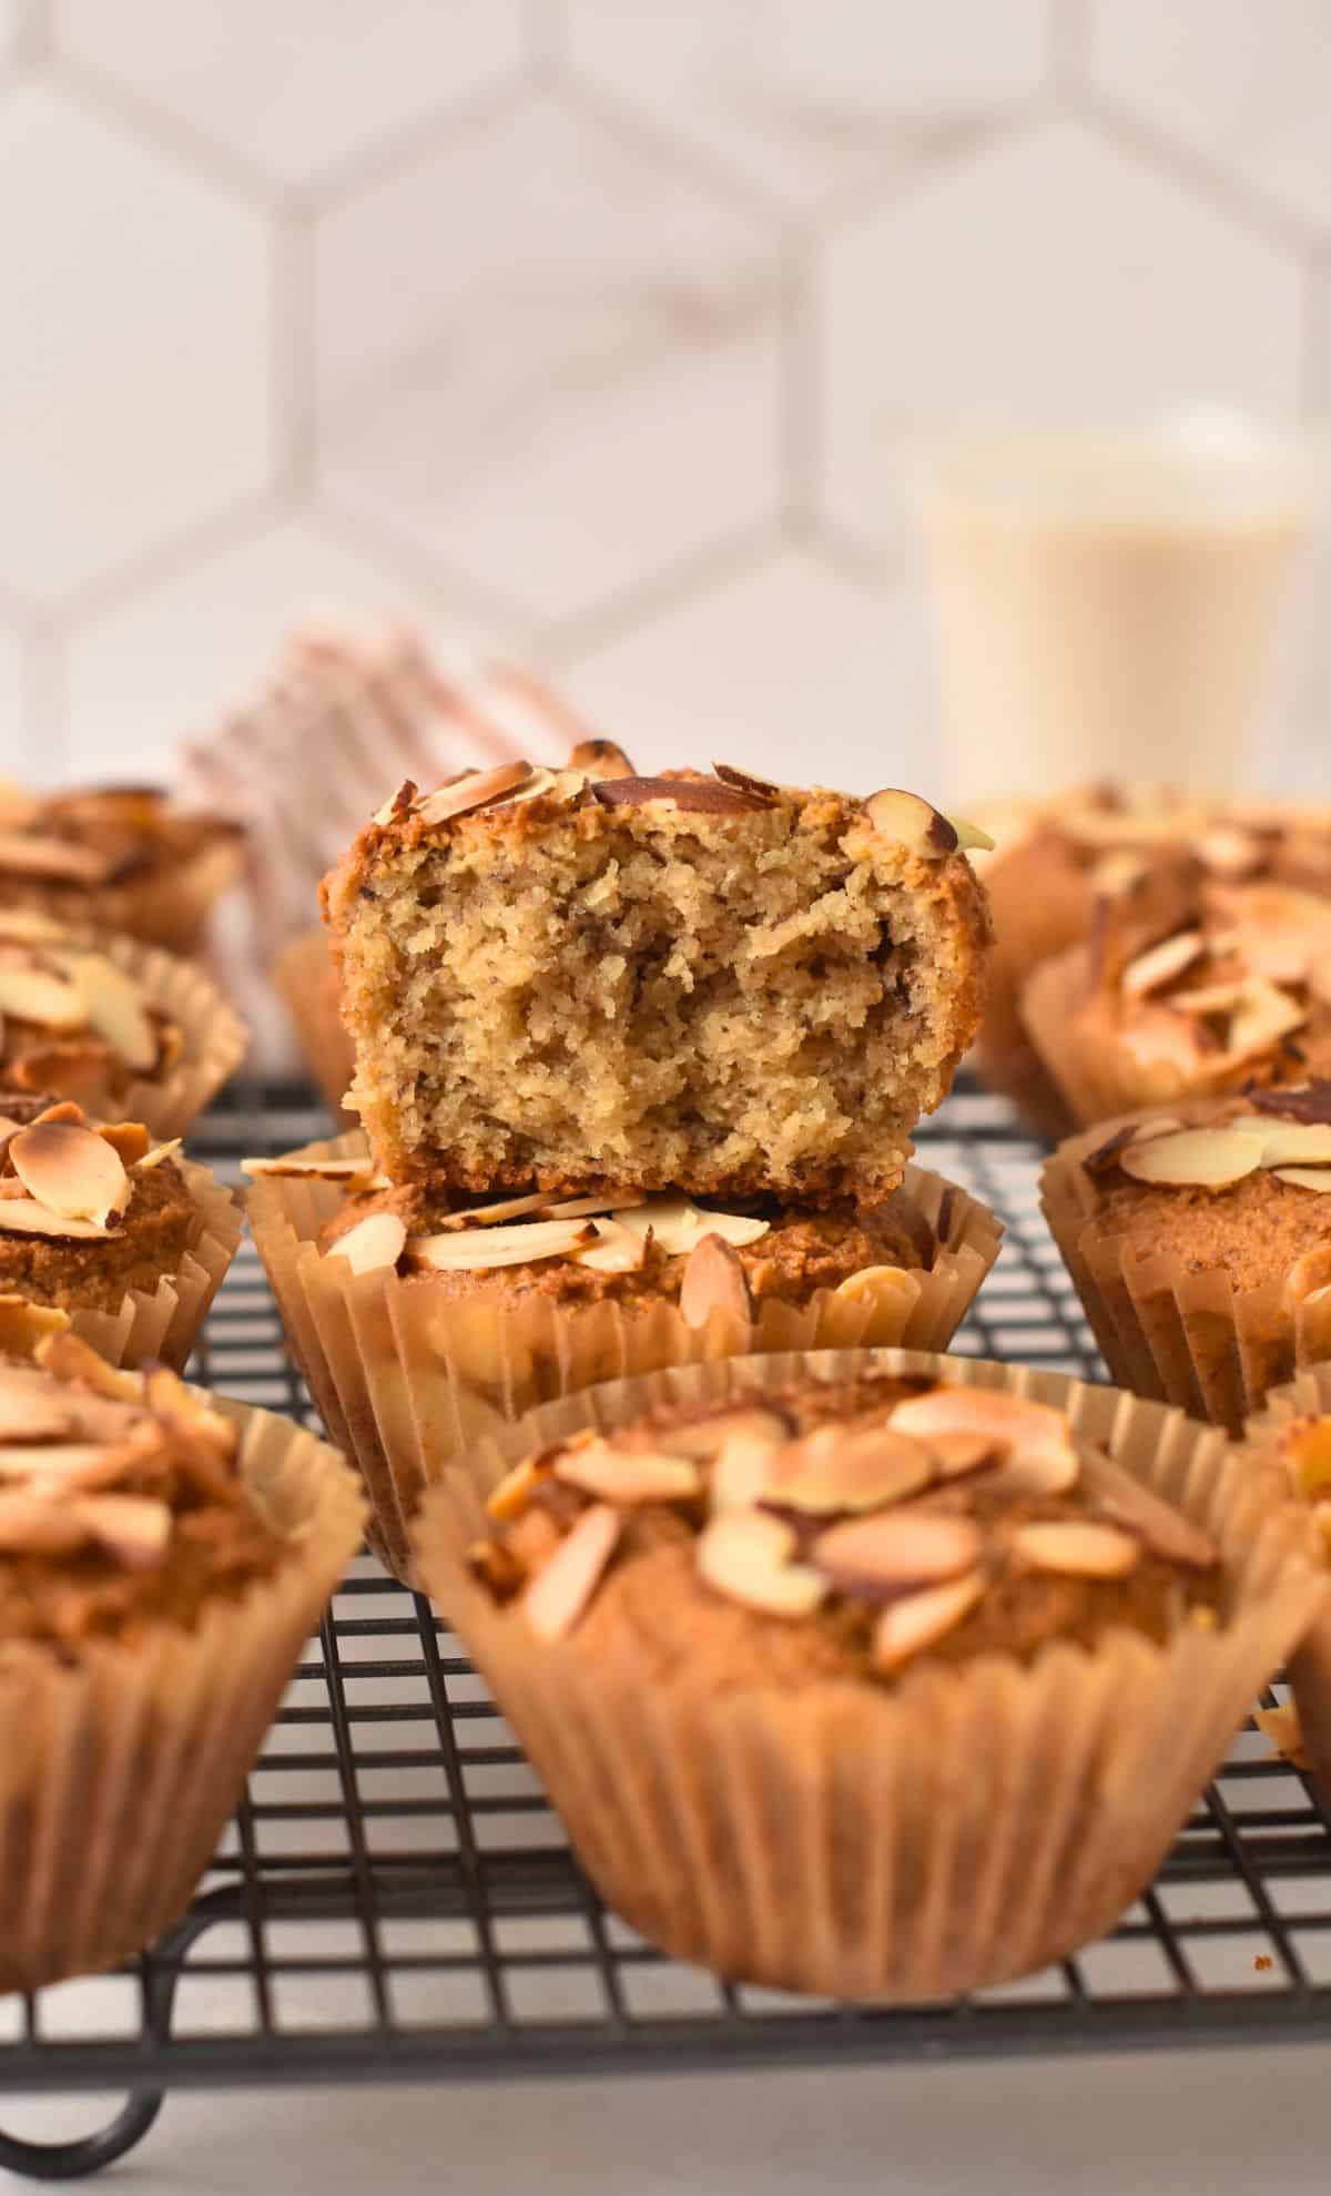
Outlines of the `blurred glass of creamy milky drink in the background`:
<svg viewBox="0 0 1331 2196">
<path fill-rule="evenodd" d="M 949 791 L 1261 777 L 1307 518 L 1276 441 L 1030 433 L 940 452 L 925 527 Z"/>
</svg>

